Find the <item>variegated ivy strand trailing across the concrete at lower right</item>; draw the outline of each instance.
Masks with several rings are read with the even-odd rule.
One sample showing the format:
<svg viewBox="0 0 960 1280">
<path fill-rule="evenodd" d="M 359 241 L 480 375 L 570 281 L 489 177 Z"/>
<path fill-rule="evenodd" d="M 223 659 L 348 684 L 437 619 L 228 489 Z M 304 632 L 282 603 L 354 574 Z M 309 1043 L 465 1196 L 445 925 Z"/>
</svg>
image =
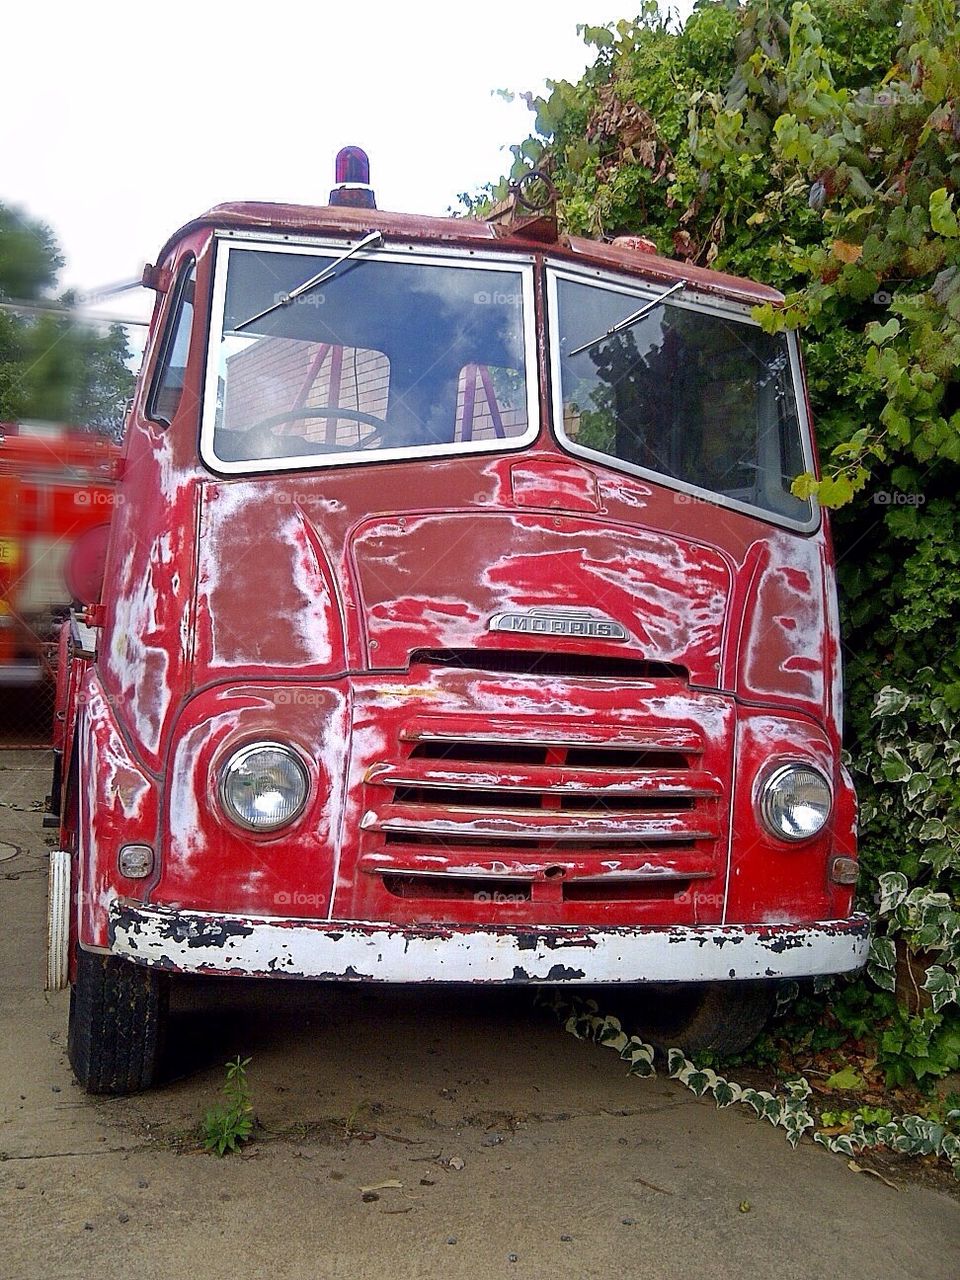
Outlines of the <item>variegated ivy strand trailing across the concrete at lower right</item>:
<svg viewBox="0 0 960 1280">
<path fill-rule="evenodd" d="M 571 1036 L 616 1050 L 628 1064 L 627 1075 L 657 1074 L 653 1046 L 637 1036 L 628 1036 L 620 1019 L 600 1014 L 595 1001 L 571 1001 L 557 996 L 549 1001 L 549 1007 Z M 783 1129 L 791 1147 L 796 1147 L 803 1135 L 817 1126 L 809 1107 L 812 1089 L 803 1076 L 785 1080 L 783 1093 L 777 1096 L 767 1089 L 737 1084 L 710 1068 L 699 1068 L 680 1048 L 668 1051 L 667 1070 L 672 1079 L 678 1080 L 698 1098 L 709 1093 L 718 1107 L 733 1103 L 749 1107 L 755 1116 L 769 1120 L 774 1129 Z M 957 1123 L 960 1110 L 947 1112 L 945 1124 L 915 1115 L 893 1116 L 883 1124 L 868 1124 L 861 1115 L 855 1115 L 849 1133 L 831 1134 L 819 1130 L 813 1134 L 813 1140 L 828 1151 L 850 1157 L 872 1147 L 886 1147 L 906 1156 L 940 1156 L 952 1167 L 954 1176 L 960 1179 L 960 1135 L 952 1132 Z"/>
</svg>

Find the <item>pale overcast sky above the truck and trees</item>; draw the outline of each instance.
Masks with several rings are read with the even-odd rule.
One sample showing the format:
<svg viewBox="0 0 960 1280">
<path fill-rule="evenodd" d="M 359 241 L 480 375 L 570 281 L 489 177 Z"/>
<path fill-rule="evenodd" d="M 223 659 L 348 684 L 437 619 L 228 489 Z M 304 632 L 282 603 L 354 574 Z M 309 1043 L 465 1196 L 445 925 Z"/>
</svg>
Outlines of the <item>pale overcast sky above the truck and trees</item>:
<svg viewBox="0 0 960 1280">
<path fill-rule="evenodd" d="M 689 13 L 692 0 L 673 4 Z M 140 275 L 228 200 L 325 204 L 333 157 L 367 150 L 381 209 L 442 214 L 499 177 L 532 115 L 497 88 L 576 81 L 577 23 L 611 0 L 17 4 L 4 15 L 0 201 L 47 221 L 61 287 Z M 146 297 L 109 305 L 143 314 Z"/>
</svg>

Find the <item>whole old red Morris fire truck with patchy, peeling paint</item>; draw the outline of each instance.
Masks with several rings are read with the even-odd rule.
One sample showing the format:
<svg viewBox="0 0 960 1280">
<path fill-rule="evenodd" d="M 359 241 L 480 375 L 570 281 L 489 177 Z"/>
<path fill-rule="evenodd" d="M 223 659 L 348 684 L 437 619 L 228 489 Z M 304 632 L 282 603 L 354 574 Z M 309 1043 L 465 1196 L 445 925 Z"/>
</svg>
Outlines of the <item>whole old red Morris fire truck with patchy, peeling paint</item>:
<svg viewBox="0 0 960 1280">
<path fill-rule="evenodd" d="M 50 983 L 91 1092 L 172 974 L 660 991 L 733 1048 L 854 970 L 855 797 L 773 291 L 489 220 L 220 205 L 157 266 L 72 626 Z"/>
</svg>

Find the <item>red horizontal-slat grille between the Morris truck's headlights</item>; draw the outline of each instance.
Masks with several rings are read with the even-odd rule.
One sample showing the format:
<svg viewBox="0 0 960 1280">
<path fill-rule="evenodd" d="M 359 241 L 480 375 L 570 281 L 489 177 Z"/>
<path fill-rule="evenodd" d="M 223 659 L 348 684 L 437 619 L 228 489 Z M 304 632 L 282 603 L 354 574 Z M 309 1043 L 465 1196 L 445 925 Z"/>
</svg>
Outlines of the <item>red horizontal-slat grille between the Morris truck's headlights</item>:
<svg viewBox="0 0 960 1280">
<path fill-rule="evenodd" d="M 362 826 L 384 847 L 543 858 L 694 850 L 719 835 L 723 788 L 695 730 L 413 724 L 401 740 L 401 760 L 366 772 Z"/>
</svg>

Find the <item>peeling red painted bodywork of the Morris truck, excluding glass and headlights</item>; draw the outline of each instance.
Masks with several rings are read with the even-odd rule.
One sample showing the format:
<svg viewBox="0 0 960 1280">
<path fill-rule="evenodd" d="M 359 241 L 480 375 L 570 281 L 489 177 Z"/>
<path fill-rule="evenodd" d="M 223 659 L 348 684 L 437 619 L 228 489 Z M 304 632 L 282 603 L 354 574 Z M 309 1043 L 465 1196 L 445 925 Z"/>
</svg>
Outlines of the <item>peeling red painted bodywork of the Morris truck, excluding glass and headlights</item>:
<svg viewBox="0 0 960 1280">
<path fill-rule="evenodd" d="M 532 950 L 588 959 L 518 961 L 500 980 L 576 982 L 616 931 L 654 931 L 664 955 L 804 952 L 835 925 L 846 937 L 852 891 L 828 867 L 855 855 L 855 800 L 838 760 L 826 526 L 681 502 L 676 484 L 564 452 L 549 422 L 543 302 L 530 371 L 541 422 L 521 453 L 214 475 L 197 451 L 214 232 L 279 227 L 379 227 L 394 244 L 520 255 L 541 297 L 554 260 L 686 279 L 731 305 L 774 297 L 623 247 L 532 252 L 484 224 L 370 210 L 223 206 L 175 237 L 161 261 L 170 278 L 197 261 L 183 396 L 169 425 L 150 419 L 166 294 L 128 424 L 97 657 L 76 655 L 61 681 L 81 941 L 109 945 L 119 899 L 177 934 L 177 956 L 148 963 L 184 966 L 204 950 L 200 966 L 216 972 L 232 972 L 237 937 L 216 922 L 234 918 L 316 928 L 324 946 L 340 927 L 355 941 L 406 931 L 438 955 L 463 952 L 476 931 L 513 931 L 508 950 L 530 937 Z M 492 627 L 504 613 L 570 611 L 611 627 Z M 310 778 L 302 813 L 271 836 L 232 824 L 218 800 L 225 759 L 255 741 L 288 744 Z M 755 801 L 764 771 L 792 759 L 823 771 L 835 806 L 819 836 L 787 846 Z M 129 842 L 155 850 L 148 881 L 119 876 Z M 859 924 L 852 934 L 846 968 L 861 952 Z M 124 937 L 142 959 L 136 932 Z M 250 964 L 237 969 L 292 972 L 279 954 Z M 320 975 L 370 977 L 356 957 Z M 742 973 L 726 964 L 719 977 Z"/>
</svg>

